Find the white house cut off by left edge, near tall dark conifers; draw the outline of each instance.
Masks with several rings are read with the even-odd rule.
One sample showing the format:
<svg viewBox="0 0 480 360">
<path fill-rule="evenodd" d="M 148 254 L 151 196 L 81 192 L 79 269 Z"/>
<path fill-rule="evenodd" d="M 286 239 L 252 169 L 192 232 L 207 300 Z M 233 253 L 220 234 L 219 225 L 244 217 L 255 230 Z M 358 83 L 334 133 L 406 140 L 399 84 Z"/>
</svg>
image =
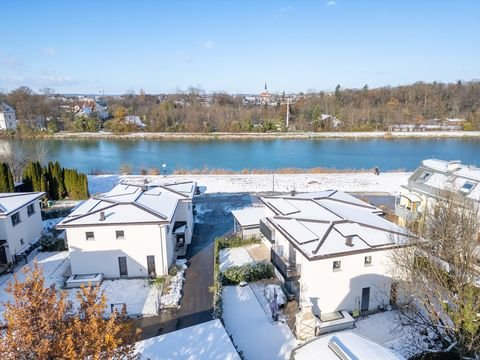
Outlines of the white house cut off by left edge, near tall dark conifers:
<svg viewBox="0 0 480 360">
<path fill-rule="evenodd" d="M 39 199 L 43 192 L 0 193 L 0 268 L 40 238 L 43 230 Z"/>
</svg>

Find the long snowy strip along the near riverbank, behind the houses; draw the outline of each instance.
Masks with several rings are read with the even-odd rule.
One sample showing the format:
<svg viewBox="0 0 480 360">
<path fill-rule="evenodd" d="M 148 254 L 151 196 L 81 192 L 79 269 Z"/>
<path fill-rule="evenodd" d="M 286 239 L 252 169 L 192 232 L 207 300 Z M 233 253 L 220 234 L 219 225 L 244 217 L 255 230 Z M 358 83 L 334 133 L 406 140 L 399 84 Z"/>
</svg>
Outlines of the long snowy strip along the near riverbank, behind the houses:
<svg viewBox="0 0 480 360">
<path fill-rule="evenodd" d="M 382 173 L 379 176 L 370 173 L 338 174 L 255 174 L 255 175 L 168 175 L 133 176 L 133 175 L 90 175 L 89 191 L 98 194 L 112 189 L 121 180 L 143 183 L 147 178 L 159 182 L 181 182 L 194 180 L 204 187 L 206 193 L 238 192 L 312 192 L 336 189 L 348 192 L 382 192 L 395 193 L 401 185 L 406 185 L 411 173 Z"/>
</svg>

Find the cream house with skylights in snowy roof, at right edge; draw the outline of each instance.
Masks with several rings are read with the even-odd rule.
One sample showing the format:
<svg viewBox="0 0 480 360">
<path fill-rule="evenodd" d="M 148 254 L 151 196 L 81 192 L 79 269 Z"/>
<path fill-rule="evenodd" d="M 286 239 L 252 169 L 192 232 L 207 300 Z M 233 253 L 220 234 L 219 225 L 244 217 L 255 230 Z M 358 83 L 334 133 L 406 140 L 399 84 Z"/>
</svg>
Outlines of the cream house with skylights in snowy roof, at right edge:
<svg viewBox="0 0 480 360">
<path fill-rule="evenodd" d="M 453 191 L 466 200 L 480 203 L 480 168 L 460 161 L 423 160 L 403 186 L 396 200 L 395 214 L 402 220 L 415 220 L 443 192 Z"/>
</svg>

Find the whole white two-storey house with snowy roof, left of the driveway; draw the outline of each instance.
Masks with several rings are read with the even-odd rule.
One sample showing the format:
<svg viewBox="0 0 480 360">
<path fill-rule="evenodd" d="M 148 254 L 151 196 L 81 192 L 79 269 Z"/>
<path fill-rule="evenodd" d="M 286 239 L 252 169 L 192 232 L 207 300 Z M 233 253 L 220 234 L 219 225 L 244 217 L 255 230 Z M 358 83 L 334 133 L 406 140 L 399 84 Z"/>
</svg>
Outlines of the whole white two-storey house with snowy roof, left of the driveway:
<svg viewBox="0 0 480 360">
<path fill-rule="evenodd" d="M 84 202 L 57 225 L 66 230 L 72 273 L 166 275 L 192 240 L 195 187 L 121 183 Z"/>
</svg>

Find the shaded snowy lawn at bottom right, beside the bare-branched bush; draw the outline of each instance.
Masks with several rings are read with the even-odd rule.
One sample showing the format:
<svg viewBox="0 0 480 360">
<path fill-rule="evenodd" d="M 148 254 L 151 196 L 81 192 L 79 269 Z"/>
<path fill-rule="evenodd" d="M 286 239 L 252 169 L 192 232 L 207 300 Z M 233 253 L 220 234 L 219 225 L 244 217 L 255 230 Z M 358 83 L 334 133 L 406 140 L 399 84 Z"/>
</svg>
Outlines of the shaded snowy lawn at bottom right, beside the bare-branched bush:
<svg viewBox="0 0 480 360">
<path fill-rule="evenodd" d="M 410 358 L 428 349 L 428 339 L 410 327 L 399 326 L 398 313 L 385 311 L 355 322 L 352 332 Z"/>
</svg>

